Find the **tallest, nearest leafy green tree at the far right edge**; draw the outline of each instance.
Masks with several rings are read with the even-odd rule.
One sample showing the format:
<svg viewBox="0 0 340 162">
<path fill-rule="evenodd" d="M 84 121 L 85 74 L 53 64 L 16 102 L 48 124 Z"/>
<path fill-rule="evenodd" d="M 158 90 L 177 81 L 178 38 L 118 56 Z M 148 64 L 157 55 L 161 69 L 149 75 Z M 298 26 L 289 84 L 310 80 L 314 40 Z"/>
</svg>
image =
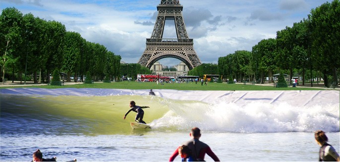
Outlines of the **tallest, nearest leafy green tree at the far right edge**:
<svg viewBox="0 0 340 162">
<path fill-rule="evenodd" d="M 338 78 L 340 67 L 340 1 L 333 0 L 312 9 L 308 15 L 312 35 L 312 57 L 315 57 L 316 66 L 324 73 L 325 85 L 327 75 Z M 338 86 L 338 79 L 335 79 Z"/>
</svg>

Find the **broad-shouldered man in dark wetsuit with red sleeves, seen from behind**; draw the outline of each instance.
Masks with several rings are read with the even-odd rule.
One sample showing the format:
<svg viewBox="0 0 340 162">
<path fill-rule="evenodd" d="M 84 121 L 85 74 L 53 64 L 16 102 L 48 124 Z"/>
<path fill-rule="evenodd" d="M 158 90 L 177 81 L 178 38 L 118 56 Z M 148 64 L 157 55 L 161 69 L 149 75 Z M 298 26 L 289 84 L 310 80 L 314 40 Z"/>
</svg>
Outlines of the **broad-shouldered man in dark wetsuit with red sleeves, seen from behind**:
<svg viewBox="0 0 340 162">
<path fill-rule="evenodd" d="M 198 127 L 195 127 L 191 129 L 190 132 L 191 140 L 185 142 L 183 145 L 186 145 L 190 148 L 192 152 L 192 157 L 195 161 L 203 162 L 204 156 L 207 154 L 210 156 L 215 162 L 219 162 L 219 159 L 217 156 L 211 151 L 210 147 L 205 144 L 204 142 L 201 142 L 199 139 L 201 137 L 201 130 Z M 175 158 L 178 156 L 178 148 L 175 150 L 175 152 L 171 155 L 169 162 L 173 162 Z"/>
</svg>

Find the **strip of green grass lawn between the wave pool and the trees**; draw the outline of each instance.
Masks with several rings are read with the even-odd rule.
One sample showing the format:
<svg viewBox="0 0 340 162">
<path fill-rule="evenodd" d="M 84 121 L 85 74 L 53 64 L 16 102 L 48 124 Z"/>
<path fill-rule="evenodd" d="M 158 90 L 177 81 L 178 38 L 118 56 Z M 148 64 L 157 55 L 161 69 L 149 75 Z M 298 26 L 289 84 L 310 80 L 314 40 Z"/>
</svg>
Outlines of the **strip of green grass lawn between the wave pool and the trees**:
<svg viewBox="0 0 340 162">
<path fill-rule="evenodd" d="M 201 91 L 281 91 L 281 90 L 325 90 L 323 88 L 302 88 L 302 87 L 287 87 L 275 88 L 273 86 L 260 86 L 252 84 L 226 84 L 226 83 L 208 83 L 206 86 L 200 82 L 189 83 L 164 83 L 164 85 L 156 84 L 155 82 L 112 82 L 112 83 L 94 83 L 94 84 L 74 84 L 64 86 L 51 85 L 30 85 L 30 86 L 11 86 L 0 88 L 102 88 L 102 89 L 174 89 L 174 90 L 201 90 Z"/>
</svg>

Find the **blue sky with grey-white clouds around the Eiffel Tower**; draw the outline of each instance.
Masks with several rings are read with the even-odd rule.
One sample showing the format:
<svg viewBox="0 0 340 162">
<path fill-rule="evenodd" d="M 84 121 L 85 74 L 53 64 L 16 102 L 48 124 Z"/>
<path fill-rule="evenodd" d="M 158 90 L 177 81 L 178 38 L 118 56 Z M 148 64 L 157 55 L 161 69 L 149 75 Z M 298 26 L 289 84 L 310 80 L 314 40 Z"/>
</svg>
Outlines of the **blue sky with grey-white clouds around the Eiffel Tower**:
<svg viewBox="0 0 340 162">
<path fill-rule="evenodd" d="M 251 51 L 276 31 L 306 18 L 312 8 L 327 0 L 180 0 L 189 38 L 202 63 L 237 50 Z M 23 14 L 63 23 L 68 31 L 104 45 L 136 63 L 157 16 L 160 0 L 0 0 L 0 9 L 15 7 Z M 176 38 L 173 21 L 166 21 L 163 38 Z M 163 65 L 180 60 L 164 58 Z"/>
</svg>

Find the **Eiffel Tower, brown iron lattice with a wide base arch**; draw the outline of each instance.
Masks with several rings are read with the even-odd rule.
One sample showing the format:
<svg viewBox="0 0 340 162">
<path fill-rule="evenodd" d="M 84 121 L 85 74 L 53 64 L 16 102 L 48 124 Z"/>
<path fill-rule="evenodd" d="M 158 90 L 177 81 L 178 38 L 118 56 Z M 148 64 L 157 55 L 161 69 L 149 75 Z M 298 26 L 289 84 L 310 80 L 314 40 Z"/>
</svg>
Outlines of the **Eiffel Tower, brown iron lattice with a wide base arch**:
<svg viewBox="0 0 340 162">
<path fill-rule="evenodd" d="M 194 50 L 194 40 L 189 39 L 185 28 L 183 5 L 179 0 L 161 0 L 157 5 L 157 19 L 150 39 L 146 39 L 146 48 L 138 63 L 147 68 L 166 57 L 183 61 L 189 69 L 201 64 Z M 174 20 L 177 39 L 163 39 L 165 20 Z"/>
</svg>

